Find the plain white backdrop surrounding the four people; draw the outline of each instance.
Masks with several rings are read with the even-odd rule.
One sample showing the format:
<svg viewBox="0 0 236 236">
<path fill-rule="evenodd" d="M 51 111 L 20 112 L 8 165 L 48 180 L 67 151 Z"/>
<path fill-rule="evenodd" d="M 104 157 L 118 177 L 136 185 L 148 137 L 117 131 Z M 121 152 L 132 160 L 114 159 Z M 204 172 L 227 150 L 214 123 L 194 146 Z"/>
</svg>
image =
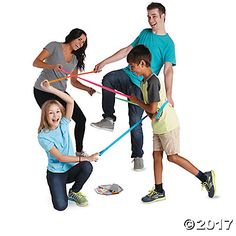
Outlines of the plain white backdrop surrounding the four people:
<svg viewBox="0 0 236 236">
<path fill-rule="evenodd" d="M 40 110 L 33 85 L 40 69 L 32 62 L 50 41 L 63 41 L 75 27 L 88 34 L 86 70 L 129 45 L 148 26 L 148 0 L 16 1 L 1 3 L 1 235 L 158 235 L 177 233 L 233 234 L 235 222 L 235 10 L 234 1 L 163 0 L 166 29 L 176 45 L 173 99 L 181 122 L 181 154 L 202 171 L 214 169 L 217 194 L 208 199 L 199 181 L 164 161 L 167 200 L 144 205 L 140 199 L 153 185 L 152 133 L 143 123 L 145 170 L 134 172 L 127 135 L 94 164 L 83 188 L 89 207 L 70 203 L 64 212 L 53 209 L 46 183 L 47 158 L 37 142 Z M 126 66 L 113 63 L 87 79 L 101 83 L 107 72 Z M 85 76 L 84 76 L 85 77 Z M 160 79 L 163 79 L 162 73 Z M 97 89 L 97 88 L 96 88 Z M 99 89 L 98 89 L 99 90 Z M 128 128 L 127 106 L 116 102 L 115 131 L 90 127 L 101 118 L 101 95 L 90 97 L 71 86 L 87 117 L 85 150 L 99 152 Z M 73 132 L 73 122 L 71 132 Z M 72 135 L 72 133 L 71 133 Z M 73 135 L 72 135 L 73 136 Z M 94 188 L 118 183 L 124 191 L 100 196 Z M 186 230 L 184 222 L 195 220 Z M 219 222 L 213 230 L 197 230 L 197 221 Z M 4 232 L 4 233 L 3 233 Z"/>
</svg>

